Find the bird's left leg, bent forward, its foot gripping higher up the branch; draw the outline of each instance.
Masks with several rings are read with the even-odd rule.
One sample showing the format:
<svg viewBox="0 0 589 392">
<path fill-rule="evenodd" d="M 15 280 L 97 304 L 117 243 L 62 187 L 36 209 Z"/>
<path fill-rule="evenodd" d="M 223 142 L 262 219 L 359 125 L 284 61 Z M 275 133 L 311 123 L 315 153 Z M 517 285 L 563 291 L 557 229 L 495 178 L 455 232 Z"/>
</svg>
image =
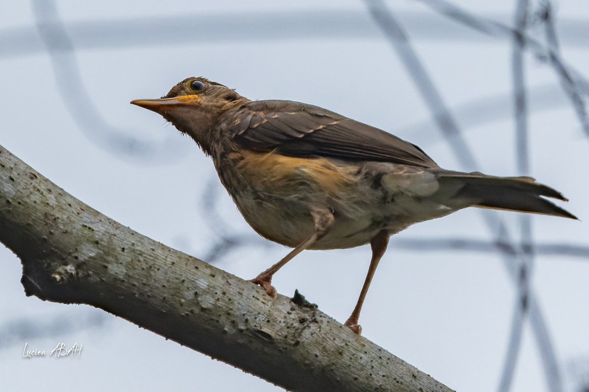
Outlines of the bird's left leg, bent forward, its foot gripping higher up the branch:
<svg viewBox="0 0 589 392">
<path fill-rule="evenodd" d="M 262 286 L 264 290 L 266 290 L 266 293 L 274 298 L 276 298 L 276 289 L 271 284 L 272 276 L 294 256 L 323 238 L 323 236 L 327 234 L 327 231 L 329 231 L 329 228 L 332 227 L 333 221 L 335 220 L 335 218 L 333 218 L 333 214 L 329 210 L 312 210 L 311 216 L 315 222 L 315 231 L 313 231 L 313 234 L 311 234 L 305 241 L 301 242 L 296 248 L 290 251 L 290 253 L 284 256 L 278 263 L 272 265 L 272 267 L 268 268 L 266 271 L 250 280 L 250 282 Z"/>
</svg>

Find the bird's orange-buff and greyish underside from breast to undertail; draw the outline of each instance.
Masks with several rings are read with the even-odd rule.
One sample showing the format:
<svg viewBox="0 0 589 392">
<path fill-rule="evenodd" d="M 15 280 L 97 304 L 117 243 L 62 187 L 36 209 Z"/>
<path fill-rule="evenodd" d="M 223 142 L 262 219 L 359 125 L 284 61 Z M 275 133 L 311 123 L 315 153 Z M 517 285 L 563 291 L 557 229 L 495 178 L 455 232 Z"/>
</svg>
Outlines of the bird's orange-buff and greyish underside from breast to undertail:
<svg viewBox="0 0 589 392">
<path fill-rule="evenodd" d="M 382 229 L 392 235 L 466 207 L 449 197 L 455 190 L 440 190 L 435 174 L 424 168 L 246 155 L 234 160 L 230 170 L 249 186 L 231 192 L 233 199 L 254 230 L 289 247 L 315 231 L 310 211 L 325 211 L 335 218 L 325 237 L 309 247 L 327 250 L 368 244 Z"/>
</svg>

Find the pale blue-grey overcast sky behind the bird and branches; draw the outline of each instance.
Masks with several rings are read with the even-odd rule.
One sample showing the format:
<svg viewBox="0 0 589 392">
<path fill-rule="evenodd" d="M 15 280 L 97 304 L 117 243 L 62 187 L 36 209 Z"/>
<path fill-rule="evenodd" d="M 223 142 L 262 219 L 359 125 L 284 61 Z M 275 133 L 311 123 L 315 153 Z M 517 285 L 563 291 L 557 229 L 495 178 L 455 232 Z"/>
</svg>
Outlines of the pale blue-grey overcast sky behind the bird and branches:
<svg viewBox="0 0 589 392">
<path fill-rule="evenodd" d="M 478 169 L 517 174 L 511 43 L 449 22 L 417 2 L 388 4 L 408 31 L 442 98 L 456 109 L 481 165 Z M 515 1 L 455 4 L 510 24 L 515 8 Z M 219 182 L 211 181 L 216 179 L 213 165 L 196 145 L 163 118 L 129 104 L 135 98 L 158 98 L 190 76 L 203 75 L 250 99 L 291 99 L 340 112 L 419 145 L 442 167 L 463 169 L 429 121 L 428 109 L 362 2 L 59 1 L 57 5 L 77 49 L 84 87 L 102 118 L 124 135 L 156 142 L 163 154 L 155 161 L 130 158 L 105 147 L 100 129 L 82 131 L 61 99 L 31 4 L 15 0 L 0 4 L 0 144 L 98 211 L 186 253 L 204 258 L 218 239 L 201 207 L 210 184 L 219 195 L 219 214 L 229 222 L 227 232 L 254 234 Z M 345 10 L 350 11 L 345 15 L 354 17 L 340 21 L 337 17 Z M 556 10 L 563 58 L 588 76 L 589 30 L 582 26 L 589 24 L 589 3 L 561 0 Z M 297 28 L 289 30 L 289 24 L 270 18 L 254 31 L 240 31 L 236 23 L 241 18 L 245 23 L 262 12 L 274 12 Z M 231 16 L 226 21 L 220 15 Z M 322 29 L 307 25 L 309 19 L 297 19 L 300 15 L 335 19 L 325 26 L 325 34 L 313 36 L 308 32 Z M 173 28 L 176 17 L 187 31 L 192 24 L 200 31 L 199 26 L 212 18 L 219 23 L 208 34 L 178 36 L 174 41 L 157 22 L 170 21 Z M 101 30 L 101 22 L 106 21 L 118 29 L 135 28 L 129 20 L 153 23 L 157 29 L 148 28 L 142 36 L 112 36 Z M 349 25 L 342 28 L 344 22 Z M 211 39 L 221 34 L 223 39 Z M 112 44 L 95 44 L 109 39 Z M 552 69 L 531 55 L 525 62 L 532 111 L 531 174 L 570 198 L 560 205 L 582 220 L 534 216 L 534 240 L 588 246 L 589 139 Z M 488 118 L 489 112 L 495 115 Z M 517 214 L 499 212 L 499 216 L 517 238 Z M 395 248 L 395 241 L 402 238 L 449 237 L 490 240 L 491 233 L 479 211 L 470 208 L 393 237 L 362 311 L 363 335 L 451 388 L 494 391 L 517 295 L 501 257 Z M 263 246 L 252 238 L 252 246 L 224 254 L 215 265 L 252 278 L 287 252 L 280 245 Z M 343 322 L 358 298 L 369 258 L 369 247 L 305 251 L 277 273 L 273 284 L 285 295 L 297 288 L 320 310 Z M 19 283 L 20 262 L 4 247 L 0 247 L 0 271 L 2 390 L 30 386 L 32 379 L 48 390 L 282 390 L 101 310 L 25 297 Z M 535 258 L 532 288 L 569 391 L 575 390 L 580 373 L 588 377 L 588 282 L 587 258 Z M 20 337 L 15 337 L 15 325 Z M 25 343 L 30 349 L 50 351 L 60 341 L 83 344 L 81 358 L 21 357 Z M 547 390 L 527 322 L 512 390 Z"/>
</svg>

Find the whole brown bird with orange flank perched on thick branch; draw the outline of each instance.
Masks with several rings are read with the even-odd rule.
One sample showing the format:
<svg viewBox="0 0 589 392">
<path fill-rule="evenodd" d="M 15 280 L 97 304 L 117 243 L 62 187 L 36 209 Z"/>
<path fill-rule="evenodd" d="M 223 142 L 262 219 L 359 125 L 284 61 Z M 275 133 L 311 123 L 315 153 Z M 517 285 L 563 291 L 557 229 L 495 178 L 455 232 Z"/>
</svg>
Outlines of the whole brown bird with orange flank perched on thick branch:
<svg viewBox="0 0 589 392">
<path fill-rule="evenodd" d="M 204 77 L 131 104 L 194 139 L 253 230 L 293 248 L 251 280 L 272 297 L 273 275 L 303 250 L 370 244 L 368 274 L 345 322 L 356 334 L 389 237 L 412 224 L 466 207 L 577 219 L 547 200 L 567 201 L 560 192 L 534 178 L 444 170 L 417 145 L 314 105 L 252 101 Z"/>
</svg>

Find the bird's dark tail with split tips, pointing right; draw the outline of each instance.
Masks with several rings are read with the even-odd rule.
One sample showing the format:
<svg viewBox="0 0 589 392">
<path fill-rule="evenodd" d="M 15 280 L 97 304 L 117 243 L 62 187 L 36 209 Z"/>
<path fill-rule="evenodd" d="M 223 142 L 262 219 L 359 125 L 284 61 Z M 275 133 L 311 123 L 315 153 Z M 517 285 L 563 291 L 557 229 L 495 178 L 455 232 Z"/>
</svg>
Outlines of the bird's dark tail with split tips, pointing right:
<svg viewBox="0 0 589 392">
<path fill-rule="evenodd" d="M 568 201 L 560 192 L 540 184 L 532 177 L 493 177 L 479 172 L 435 172 L 441 190 L 456 201 L 465 201 L 474 207 L 533 212 L 577 219 L 575 215 L 558 207 L 544 197 Z"/>
</svg>

